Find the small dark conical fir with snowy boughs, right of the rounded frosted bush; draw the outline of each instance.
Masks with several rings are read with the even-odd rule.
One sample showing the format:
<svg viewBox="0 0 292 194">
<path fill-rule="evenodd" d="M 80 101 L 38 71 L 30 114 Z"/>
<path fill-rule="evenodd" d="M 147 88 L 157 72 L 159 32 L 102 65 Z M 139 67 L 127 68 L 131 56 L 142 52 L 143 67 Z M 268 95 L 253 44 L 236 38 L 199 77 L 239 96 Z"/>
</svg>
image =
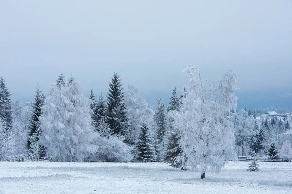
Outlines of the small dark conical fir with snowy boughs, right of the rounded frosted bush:
<svg viewBox="0 0 292 194">
<path fill-rule="evenodd" d="M 149 128 L 146 123 L 140 128 L 141 134 L 137 143 L 138 160 L 144 162 L 152 162 L 156 160 L 155 145 L 150 137 Z"/>
</svg>

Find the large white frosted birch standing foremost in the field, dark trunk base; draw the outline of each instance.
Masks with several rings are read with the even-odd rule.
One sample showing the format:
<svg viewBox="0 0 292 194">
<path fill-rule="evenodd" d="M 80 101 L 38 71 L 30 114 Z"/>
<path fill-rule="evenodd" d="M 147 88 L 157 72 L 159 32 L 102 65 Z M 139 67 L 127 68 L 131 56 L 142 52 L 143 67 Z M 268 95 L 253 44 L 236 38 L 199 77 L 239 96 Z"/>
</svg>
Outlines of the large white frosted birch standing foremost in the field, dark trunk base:
<svg viewBox="0 0 292 194">
<path fill-rule="evenodd" d="M 237 158 L 233 150 L 234 125 L 229 116 L 237 105 L 237 75 L 227 71 L 215 84 L 203 82 L 194 65 L 188 65 L 184 73 L 189 78 L 187 95 L 175 118 L 182 133 L 179 142 L 186 165 L 205 178 L 207 170 L 219 172 L 229 159 Z"/>
</svg>

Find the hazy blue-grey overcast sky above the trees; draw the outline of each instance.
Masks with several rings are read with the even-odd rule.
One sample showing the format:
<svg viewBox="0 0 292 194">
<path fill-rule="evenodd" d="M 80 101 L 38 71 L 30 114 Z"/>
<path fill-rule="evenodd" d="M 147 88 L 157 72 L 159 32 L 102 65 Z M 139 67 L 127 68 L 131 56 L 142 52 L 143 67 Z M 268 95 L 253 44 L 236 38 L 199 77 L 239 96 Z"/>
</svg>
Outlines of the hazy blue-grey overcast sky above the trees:
<svg viewBox="0 0 292 194">
<path fill-rule="evenodd" d="M 292 0 L 0 0 L 0 76 L 32 99 L 60 73 L 105 91 L 113 72 L 152 93 L 237 72 L 241 90 L 292 86 Z"/>
</svg>

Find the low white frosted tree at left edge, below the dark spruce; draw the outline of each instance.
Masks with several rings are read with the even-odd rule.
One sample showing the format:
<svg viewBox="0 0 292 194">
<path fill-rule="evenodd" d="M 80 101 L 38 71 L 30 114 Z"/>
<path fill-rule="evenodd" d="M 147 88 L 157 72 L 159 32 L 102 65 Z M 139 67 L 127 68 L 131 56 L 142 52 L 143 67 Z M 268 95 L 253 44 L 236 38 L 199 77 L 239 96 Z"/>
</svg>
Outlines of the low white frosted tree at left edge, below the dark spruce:
<svg viewBox="0 0 292 194">
<path fill-rule="evenodd" d="M 0 118 L 0 161 L 15 153 L 15 136 L 7 129 L 6 121 Z"/>
</svg>

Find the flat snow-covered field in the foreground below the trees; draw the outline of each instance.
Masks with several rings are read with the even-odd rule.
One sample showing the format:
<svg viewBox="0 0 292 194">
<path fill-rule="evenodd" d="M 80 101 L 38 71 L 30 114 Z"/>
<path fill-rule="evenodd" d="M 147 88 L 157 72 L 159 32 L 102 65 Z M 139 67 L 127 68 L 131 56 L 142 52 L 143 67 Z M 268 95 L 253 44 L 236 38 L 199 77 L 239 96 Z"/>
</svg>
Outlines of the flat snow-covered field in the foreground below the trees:
<svg viewBox="0 0 292 194">
<path fill-rule="evenodd" d="M 164 163 L 0 162 L 0 194 L 292 194 L 292 163 L 229 162 L 220 174 Z"/>
</svg>

